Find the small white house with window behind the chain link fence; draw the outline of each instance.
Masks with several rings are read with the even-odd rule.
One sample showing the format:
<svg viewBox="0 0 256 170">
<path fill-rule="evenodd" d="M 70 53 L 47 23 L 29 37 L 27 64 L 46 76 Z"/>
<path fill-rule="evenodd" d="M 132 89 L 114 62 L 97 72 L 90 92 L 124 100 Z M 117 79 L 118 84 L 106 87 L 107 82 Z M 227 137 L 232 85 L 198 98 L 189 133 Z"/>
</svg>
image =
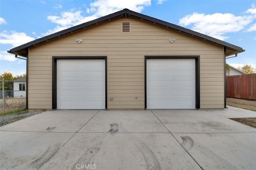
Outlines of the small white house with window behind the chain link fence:
<svg viewBox="0 0 256 170">
<path fill-rule="evenodd" d="M 26 98 L 26 77 L 13 80 L 13 97 Z"/>
</svg>

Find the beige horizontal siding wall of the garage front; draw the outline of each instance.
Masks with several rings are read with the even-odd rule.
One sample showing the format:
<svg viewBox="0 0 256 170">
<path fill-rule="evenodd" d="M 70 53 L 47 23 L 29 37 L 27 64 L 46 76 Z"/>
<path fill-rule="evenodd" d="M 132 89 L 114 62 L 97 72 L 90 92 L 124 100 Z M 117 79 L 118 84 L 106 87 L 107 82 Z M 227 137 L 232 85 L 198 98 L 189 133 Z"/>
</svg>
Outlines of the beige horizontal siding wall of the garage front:
<svg viewBox="0 0 256 170">
<path fill-rule="evenodd" d="M 131 22 L 131 33 L 121 32 L 122 21 Z M 77 38 L 83 42 L 77 44 Z M 177 40 L 171 44 L 170 38 Z M 28 107 L 52 108 L 52 56 L 99 55 L 107 56 L 109 109 L 145 107 L 145 55 L 200 55 L 201 108 L 224 107 L 223 47 L 133 18 L 109 21 L 30 48 Z"/>
</svg>

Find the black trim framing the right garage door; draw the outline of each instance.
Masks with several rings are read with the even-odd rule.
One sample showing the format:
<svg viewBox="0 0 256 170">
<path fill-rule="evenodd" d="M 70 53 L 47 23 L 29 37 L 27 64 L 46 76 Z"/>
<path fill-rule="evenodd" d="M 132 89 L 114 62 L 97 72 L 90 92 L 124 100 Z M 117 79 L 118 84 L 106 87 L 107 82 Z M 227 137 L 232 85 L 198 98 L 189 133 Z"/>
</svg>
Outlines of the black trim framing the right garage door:
<svg viewBox="0 0 256 170">
<path fill-rule="evenodd" d="M 147 59 L 166 59 L 178 58 L 189 59 L 195 58 L 196 60 L 196 108 L 200 108 L 200 56 L 145 56 L 145 109 L 147 109 Z"/>
</svg>

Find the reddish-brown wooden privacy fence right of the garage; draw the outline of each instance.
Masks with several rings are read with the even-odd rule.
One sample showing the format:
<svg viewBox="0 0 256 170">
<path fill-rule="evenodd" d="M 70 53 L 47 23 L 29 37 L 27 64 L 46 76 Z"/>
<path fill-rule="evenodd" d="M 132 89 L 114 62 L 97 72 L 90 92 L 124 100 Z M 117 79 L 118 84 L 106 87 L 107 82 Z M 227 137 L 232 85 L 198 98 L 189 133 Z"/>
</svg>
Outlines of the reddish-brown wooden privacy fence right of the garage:
<svg viewBox="0 0 256 170">
<path fill-rule="evenodd" d="M 256 74 L 227 76 L 227 97 L 256 100 Z"/>
</svg>

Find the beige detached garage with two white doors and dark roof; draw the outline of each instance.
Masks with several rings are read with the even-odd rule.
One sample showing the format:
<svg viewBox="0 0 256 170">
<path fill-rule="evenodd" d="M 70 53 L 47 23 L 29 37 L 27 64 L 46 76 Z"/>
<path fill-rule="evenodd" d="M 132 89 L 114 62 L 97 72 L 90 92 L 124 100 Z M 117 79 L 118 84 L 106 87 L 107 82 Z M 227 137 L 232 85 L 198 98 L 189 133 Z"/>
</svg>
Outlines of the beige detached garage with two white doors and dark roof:
<svg viewBox="0 0 256 170">
<path fill-rule="evenodd" d="M 27 58 L 29 109 L 196 109 L 226 107 L 244 49 L 124 9 L 8 52 Z"/>
</svg>

